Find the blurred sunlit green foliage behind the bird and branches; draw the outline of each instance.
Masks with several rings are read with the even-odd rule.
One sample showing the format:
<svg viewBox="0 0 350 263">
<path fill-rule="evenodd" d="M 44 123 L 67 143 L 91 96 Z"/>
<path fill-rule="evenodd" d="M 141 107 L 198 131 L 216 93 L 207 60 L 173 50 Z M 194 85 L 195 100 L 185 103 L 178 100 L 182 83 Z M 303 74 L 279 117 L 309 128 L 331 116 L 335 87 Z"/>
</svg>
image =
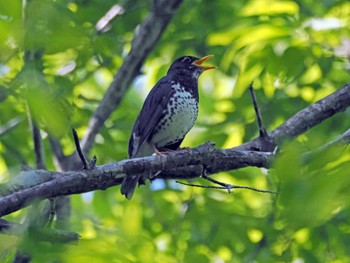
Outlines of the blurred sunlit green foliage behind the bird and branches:
<svg viewBox="0 0 350 263">
<path fill-rule="evenodd" d="M 28 110 L 64 152 L 82 137 L 134 30 L 153 1 L 0 1 L 0 181 L 35 165 Z M 122 12 L 102 31 L 112 6 Z M 23 19 L 24 16 L 24 19 Z M 96 137 L 98 164 L 127 157 L 143 99 L 179 56 L 214 54 L 200 79 L 200 115 L 183 146 L 234 147 L 257 136 L 246 92 L 254 81 L 268 130 L 349 81 L 350 2 L 342 0 L 184 1 L 120 107 Z M 218 180 L 278 191 L 278 196 L 154 183 L 126 201 L 119 189 L 72 196 L 76 245 L 24 241 L 33 262 L 349 262 L 349 150 L 301 164 L 302 152 L 349 128 L 349 110 L 285 145 L 271 171 L 246 168 Z M 12 127 L 12 128 L 9 128 Z M 201 183 L 195 180 L 196 183 Z M 6 218 L 20 222 L 27 209 Z M 0 261 L 21 238 L 0 236 Z M 23 242 L 22 242 L 23 246 Z"/>
</svg>

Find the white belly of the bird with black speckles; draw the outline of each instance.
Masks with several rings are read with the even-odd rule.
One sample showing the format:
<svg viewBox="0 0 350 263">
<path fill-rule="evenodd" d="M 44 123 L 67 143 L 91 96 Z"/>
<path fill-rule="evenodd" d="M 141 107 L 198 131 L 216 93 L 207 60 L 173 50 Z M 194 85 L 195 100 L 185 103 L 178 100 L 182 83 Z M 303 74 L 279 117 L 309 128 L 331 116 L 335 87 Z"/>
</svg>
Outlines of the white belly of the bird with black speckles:
<svg viewBox="0 0 350 263">
<path fill-rule="evenodd" d="M 191 93 L 185 91 L 180 85 L 174 85 L 173 88 L 176 96 L 169 100 L 165 113 L 166 115 L 171 113 L 171 117 L 159 123 L 158 131 L 151 140 L 157 148 L 182 139 L 193 127 L 198 116 L 198 102 Z"/>
</svg>

